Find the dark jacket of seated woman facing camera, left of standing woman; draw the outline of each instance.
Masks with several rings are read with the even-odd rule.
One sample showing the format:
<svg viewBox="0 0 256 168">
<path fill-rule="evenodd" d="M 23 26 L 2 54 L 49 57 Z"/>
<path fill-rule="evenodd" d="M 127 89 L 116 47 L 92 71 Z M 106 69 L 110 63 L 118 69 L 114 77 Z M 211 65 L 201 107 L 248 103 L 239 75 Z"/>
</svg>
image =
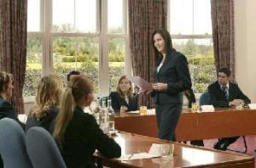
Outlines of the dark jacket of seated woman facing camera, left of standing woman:
<svg viewBox="0 0 256 168">
<path fill-rule="evenodd" d="M 126 103 L 125 98 L 121 98 L 118 92 L 111 92 L 109 97 L 112 101 L 112 108 L 114 111 L 119 111 L 122 105 L 125 105 L 127 111 L 135 111 L 138 109 L 138 95 L 133 94 L 133 98 L 129 99 L 129 104 Z"/>
</svg>

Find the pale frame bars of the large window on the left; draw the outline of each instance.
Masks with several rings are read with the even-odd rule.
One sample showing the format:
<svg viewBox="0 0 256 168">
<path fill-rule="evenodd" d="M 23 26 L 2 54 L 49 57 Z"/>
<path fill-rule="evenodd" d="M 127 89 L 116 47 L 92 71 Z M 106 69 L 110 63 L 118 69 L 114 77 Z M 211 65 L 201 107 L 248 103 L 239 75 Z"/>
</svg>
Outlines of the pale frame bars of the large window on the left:
<svg viewBox="0 0 256 168">
<path fill-rule="evenodd" d="M 51 32 L 52 25 L 52 0 L 41 0 L 41 31 L 27 32 L 27 36 L 40 36 L 42 38 L 43 46 L 43 62 L 42 62 L 42 76 L 49 75 L 54 72 L 53 68 L 53 39 L 56 36 L 81 36 L 81 37 L 98 37 L 99 39 L 99 92 L 98 95 L 106 96 L 109 94 L 109 67 L 108 67 L 108 40 L 113 37 L 121 37 L 125 39 L 125 75 L 131 76 L 131 59 L 129 54 L 129 38 L 128 38 L 128 1 L 123 0 L 124 11 L 124 32 L 123 34 L 108 34 L 108 0 L 96 1 L 96 17 L 98 30 L 96 33 L 59 33 Z M 25 98 L 26 99 L 26 98 Z"/>
</svg>

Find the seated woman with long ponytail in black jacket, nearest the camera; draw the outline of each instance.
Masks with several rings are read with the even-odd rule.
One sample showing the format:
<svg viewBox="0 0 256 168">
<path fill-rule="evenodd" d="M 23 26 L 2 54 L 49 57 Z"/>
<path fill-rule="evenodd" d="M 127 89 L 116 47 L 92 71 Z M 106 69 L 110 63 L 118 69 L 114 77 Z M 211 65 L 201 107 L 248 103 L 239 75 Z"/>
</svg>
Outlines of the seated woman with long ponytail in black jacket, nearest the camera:
<svg viewBox="0 0 256 168">
<path fill-rule="evenodd" d="M 53 132 L 67 167 L 93 167 L 96 149 L 107 158 L 119 157 L 119 144 L 102 132 L 93 115 L 84 113 L 94 99 L 92 82 L 78 75 L 72 76 L 68 84 Z"/>
</svg>

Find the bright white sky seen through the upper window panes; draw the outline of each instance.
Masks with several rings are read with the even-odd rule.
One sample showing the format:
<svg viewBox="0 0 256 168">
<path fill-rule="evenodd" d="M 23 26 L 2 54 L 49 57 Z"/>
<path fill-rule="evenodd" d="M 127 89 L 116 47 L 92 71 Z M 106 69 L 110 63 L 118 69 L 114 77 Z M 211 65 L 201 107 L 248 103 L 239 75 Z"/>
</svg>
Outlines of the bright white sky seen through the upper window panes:
<svg viewBox="0 0 256 168">
<path fill-rule="evenodd" d="M 96 0 L 52 1 L 54 25 L 70 23 L 76 31 L 96 32 Z M 39 18 L 40 0 L 28 0 L 28 31 L 40 31 Z M 170 20 L 171 34 L 212 34 L 210 0 L 171 0 Z M 123 1 L 108 0 L 108 27 L 123 27 Z"/>
</svg>

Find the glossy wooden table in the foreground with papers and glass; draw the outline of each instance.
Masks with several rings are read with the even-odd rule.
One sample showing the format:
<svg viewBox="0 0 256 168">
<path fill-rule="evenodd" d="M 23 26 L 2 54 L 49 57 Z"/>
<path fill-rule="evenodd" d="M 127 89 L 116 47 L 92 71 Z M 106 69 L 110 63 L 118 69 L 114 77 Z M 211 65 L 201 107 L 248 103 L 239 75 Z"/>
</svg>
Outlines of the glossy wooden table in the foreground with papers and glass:
<svg viewBox="0 0 256 168">
<path fill-rule="evenodd" d="M 144 137 L 136 134 L 119 132 L 114 137 L 122 148 L 122 154 L 136 154 L 148 152 L 152 143 L 170 143 L 154 137 Z M 199 148 L 182 143 L 174 143 L 174 156 L 172 160 L 161 157 L 143 160 L 108 160 L 100 154 L 96 159 L 103 165 L 110 167 L 147 167 L 147 168 L 171 168 L 171 167 L 254 167 L 253 156 L 245 154 L 228 153 L 211 148 Z"/>
</svg>

